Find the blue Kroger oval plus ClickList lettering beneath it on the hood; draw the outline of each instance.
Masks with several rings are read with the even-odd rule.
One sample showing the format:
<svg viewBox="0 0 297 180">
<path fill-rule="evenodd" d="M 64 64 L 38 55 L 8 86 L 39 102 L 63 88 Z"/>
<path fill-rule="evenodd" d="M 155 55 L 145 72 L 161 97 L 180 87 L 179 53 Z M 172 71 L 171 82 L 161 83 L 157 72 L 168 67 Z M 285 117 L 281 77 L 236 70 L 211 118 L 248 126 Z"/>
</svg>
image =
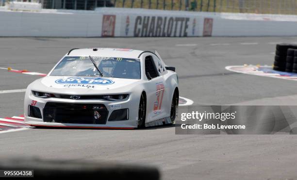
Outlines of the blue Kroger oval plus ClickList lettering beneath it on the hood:
<svg viewBox="0 0 297 180">
<path fill-rule="evenodd" d="M 68 77 L 66 79 L 58 79 L 57 84 L 64 84 L 64 87 L 86 87 L 94 88 L 94 85 L 110 85 L 115 82 L 103 77 Z"/>
</svg>

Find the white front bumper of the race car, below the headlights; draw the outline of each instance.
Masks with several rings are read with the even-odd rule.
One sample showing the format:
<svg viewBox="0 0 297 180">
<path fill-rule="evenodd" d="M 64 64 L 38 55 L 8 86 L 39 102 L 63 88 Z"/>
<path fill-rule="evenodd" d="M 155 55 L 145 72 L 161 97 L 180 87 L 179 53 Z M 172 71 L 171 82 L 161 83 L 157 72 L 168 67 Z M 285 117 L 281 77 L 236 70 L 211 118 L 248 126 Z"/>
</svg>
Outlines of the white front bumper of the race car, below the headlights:
<svg viewBox="0 0 297 180">
<path fill-rule="evenodd" d="M 71 100 L 71 99 L 59 99 L 59 98 L 38 98 L 33 96 L 32 93 L 26 93 L 24 116 L 25 123 L 31 126 L 53 126 L 53 127 L 80 127 L 80 128 L 112 128 L 112 129 L 133 129 L 137 127 L 138 120 L 138 104 L 133 101 L 132 94 L 126 100 L 121 101 L 107 101 L 107 100 Z M 29 116 L 29 106 L 39 108 L 41 112 L 41 119 Z M 49 108 L 49 105 L 50 108 Z M 53 108 L 52 105 L 66 105 L 61 110 L 61 106 Z M 68 107 L 68 105 L 70 105 Z M 103 110 L 97 110 L 96 105 L 103 105 L 106 114 L 104 115 Z M 32 106 L 31 106 L 32 107 Z M 85 109 L 80 109 L 86 107 Z M 67 110 L 69 108 L 69 110 Z M 118 109 L 129 109 L 127 120 L 112 120 L 109 121 L 113 111 Z M 59 113 L 56 112 L 59 109 Z M 104 110 L 104 111 L 105 111 Z M 50 113 L 49 113 L 50 111 Z M 67 112 L 69 111 L 68 115 Z M 97 112 L 95 112 L 97 111 Z M 95 112 L 95 114 L 94 114 Z M 91 113 L 91 114 L 90 114 Z M 102 116 L 100 120 L 96 119 L 96 114 Z M 52 117 L 52 121 L 49 118 L 53 115 L 59 114 L 57 117 Z M 63 116 L 62 116 L 63 114 Z M 85 115 L 85 116 L 84 116 Z M 100 117 L 97 116 L 97 117 Z M 105 117 L 106 116 L 106 117 Z M 72 118 L 70 118 L 72 117 Z M 94 121 L 92 121 L 94 117 Z M 103 119 L 102 119 L 103 118 Z M 104 120 L 105 118 L 105 120 Z M 55 120 L 54 120 L 55 119 Z M 84 121 L 86 123 L 84 123 Z"/>
</svg>

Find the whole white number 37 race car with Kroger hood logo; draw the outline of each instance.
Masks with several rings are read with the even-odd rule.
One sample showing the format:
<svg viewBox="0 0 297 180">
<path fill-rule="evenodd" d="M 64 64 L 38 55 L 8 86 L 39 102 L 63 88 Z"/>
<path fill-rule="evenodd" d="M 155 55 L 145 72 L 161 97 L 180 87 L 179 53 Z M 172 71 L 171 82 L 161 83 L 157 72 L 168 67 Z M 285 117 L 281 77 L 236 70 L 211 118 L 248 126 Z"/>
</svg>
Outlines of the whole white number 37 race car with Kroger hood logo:
<svg viewBox="0 0 297 180">
<path fill-rule="evenodd" d="M 118 48 L 71 49 L 25 95 L 31 126 L 142 128 L 173 123 L 178 76 L 160 55 Z"/>
</svg>

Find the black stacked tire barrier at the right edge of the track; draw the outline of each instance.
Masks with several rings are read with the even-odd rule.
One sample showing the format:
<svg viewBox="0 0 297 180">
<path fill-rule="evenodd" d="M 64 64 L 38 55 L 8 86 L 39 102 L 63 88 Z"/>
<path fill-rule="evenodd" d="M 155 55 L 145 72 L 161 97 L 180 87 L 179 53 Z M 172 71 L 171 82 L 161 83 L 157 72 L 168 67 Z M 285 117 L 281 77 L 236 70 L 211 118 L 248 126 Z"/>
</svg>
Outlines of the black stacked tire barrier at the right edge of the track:
<svg viewBox="0 0 297 180">
<path fill-rule="evenodd" d="M 297 45 L 276 46 L 273 70 L 297 73 Z"/>
</svg>

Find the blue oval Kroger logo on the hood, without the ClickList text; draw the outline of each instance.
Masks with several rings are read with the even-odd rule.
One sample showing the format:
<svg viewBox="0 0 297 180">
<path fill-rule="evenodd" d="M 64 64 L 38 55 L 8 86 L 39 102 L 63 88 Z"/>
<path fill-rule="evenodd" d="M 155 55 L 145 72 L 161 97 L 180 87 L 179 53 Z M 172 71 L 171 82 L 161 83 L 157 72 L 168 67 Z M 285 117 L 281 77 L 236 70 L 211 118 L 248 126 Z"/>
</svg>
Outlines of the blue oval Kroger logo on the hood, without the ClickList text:
<svg viewBox="0 0 297 180">
<path fill-rule="evenodd" d="M 58 79 L 57 84 L 93 84 L 93 85 L 109 85 L 114 81 L 102 77 L 69 77 L 67 79 Z"/>
</svg>

